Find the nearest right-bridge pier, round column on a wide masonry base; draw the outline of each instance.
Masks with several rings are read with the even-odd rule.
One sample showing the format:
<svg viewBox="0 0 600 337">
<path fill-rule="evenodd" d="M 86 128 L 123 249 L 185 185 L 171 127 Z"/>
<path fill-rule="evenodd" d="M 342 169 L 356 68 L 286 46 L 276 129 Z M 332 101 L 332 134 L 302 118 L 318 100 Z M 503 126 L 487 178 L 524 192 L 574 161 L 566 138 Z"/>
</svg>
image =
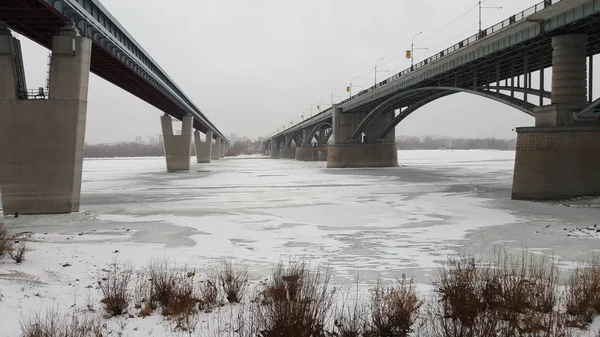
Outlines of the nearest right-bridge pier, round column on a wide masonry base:
<svg viewBox="0 0 600 337">
<path fill-rule="evenodd" d="M 600 195 L 600 127 L 574 118 L 587 106 L 587 36 L 555 36 L 552 47 L 552 104 L 517 128 L 513 199 Z"/>
</svg>

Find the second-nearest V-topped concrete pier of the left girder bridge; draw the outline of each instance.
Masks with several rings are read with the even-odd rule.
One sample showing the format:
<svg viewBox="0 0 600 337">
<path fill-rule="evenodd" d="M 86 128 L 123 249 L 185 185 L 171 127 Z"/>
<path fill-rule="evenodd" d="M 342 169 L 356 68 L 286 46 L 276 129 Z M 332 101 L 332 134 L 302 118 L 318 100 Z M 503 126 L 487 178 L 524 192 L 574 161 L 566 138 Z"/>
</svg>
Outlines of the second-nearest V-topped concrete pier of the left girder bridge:
<svg viewBox="0 0 600 337">
<path fill-rule="evenodd" d="M 173 122 L 171 116 L 165 114 L 160 117 L 165 146 L 165 157 L 168 172 L 180 172 L 190 170 L 190 149 L 192 146 L 192 124 L 194 117 L 183 116 L 181 123 L 181 135 L 173 134 Z"/>
</svg>

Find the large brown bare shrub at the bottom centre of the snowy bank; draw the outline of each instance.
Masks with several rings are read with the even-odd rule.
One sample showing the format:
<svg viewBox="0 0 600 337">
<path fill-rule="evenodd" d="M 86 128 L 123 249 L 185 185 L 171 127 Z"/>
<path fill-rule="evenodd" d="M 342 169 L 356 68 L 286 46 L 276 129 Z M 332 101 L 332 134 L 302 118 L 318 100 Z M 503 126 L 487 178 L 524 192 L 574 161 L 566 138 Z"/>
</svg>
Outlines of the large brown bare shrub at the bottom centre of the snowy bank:
<svg viewBox="0 0 600 337">
<path fill-rule="evenodd" d="M 263 292 L 263 300 L 250 309 L 261 336 L 324 335 L 335 295 L 329 280 L 329 272 L 321 267 L 311 270 L 298 261 L 286 269 L 280 263 Z"/>
</svg>

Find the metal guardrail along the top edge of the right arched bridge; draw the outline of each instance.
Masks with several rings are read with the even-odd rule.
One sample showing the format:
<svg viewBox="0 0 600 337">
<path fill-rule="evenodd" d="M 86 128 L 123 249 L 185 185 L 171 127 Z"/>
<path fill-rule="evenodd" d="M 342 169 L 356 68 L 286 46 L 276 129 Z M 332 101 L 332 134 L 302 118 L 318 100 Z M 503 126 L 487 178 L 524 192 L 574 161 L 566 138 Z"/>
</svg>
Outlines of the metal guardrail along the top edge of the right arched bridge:
<svg viewBox="0 0 600 337">
<path fill-rule="evenodd" d="M 387 79 L 385 79 L 385 80 L 383 80 L 383 81 L 381 81 L 381 82 L 379 82 L 379 83 L 377 83 L 377 84 L 375 84 L 375 85 L 373 85 L 373 86 L 371 86 L 371 87 L 369 87 L 367 89 L 364 89 L 364 90 L 360 91 L 356 95 L 353 95 L 353 96 L 351 96 L 349 98 L 346 98 L 345 100 L 343 100 L 341 102 L 338 102 L 337 104 L 344 104 L 344 103 L 349 102 L 349 101 L 351 101 L 353 99 L 356 99 L 357 97 L 360 97 L 360 96 L 362 96 L 362 95 L 364 95 L 364 94 L 366 94 L 368 92 L 371 92 L 371 91 L 373 91 L 373 90 L 375 90 L 377 88 L 380 88 L 380 87 L 385 86 L 385 85 L 387 85 L 387 84 L 389 84 L 391 82 L 394 82 L 394 81 L 396 81 L 396 80 L 398 80 L 400 78 L 403 78 L 403 77 L 407 76 L 408 74 L 410 74 L 410 73 L 412 73 L 412 72 L 414 72 L 414 71 L 416 71 L 416 70 L 418 70 L 420 68 L 423 68 L 424 66 L 426 66 L 426 65 L 428 65 L 430 63 L 436 62 L 436 61 L 438 61 L 438 60 L 440 60 L 440 59 L 442 59 L 442 58 L 444 58 L 444 57 L 446 57 L 446 56 L 448 56 L 448 55 L 450 55 L 452 53 L 455 53 L 458 50 L 461 50 L 461 49 L 463 49 L 463 48 L 465 48 L 465 47 L 467 47 L 467 46 L 469 46 L 469 45 L 471 45 L 471 44 L 473 44 L 473 43 L 475 43 L 475 42 L 477 42 L 477 41 L 479 41 L 479 40 L 487 37 L 488 35 L 496 33 L 496 32 L 498 32 L 500 30 L 503 30 L 503 29 L 505 29 L 507 27 L 513 26 L 516 23 L 519 23 L 519 22 L 527 19 L 529 16 L 531 16 L 533 14 L 536 14 L 538 12 L 541 12 L 542 10 L 544 10 L 544 9 L 546 9 L 546 8 L 554 5 L 554 4 L 557 4 L 557 3 L 561 2 L 561 1 L 564 1 L 564 0 L 544 0 L 544 1 L 542 1 L 542 2 L 540 2 L 538 4 L 536 4 L 536 5 L 533 5 L 533 6 L 529 7 L 529 8 L 527 8 L 527 9 L 525 9 L 524 11 L 511 16 L 510 18 L 508 18 L 506 20 L 503 20 L 503 21 L 501 21 L 501 22 L 499 22 L 499 23 L 497 23 L 497 24 L 495 24 L 495 25 L 493 25 L 493 26 L 491 26 L 491 27 L 489 27 L 487 29 L 482 30 L 480 33 L 474 34 L 474 35 L 472 35 L 472 36 L 470 36 L 470 37 L 468 37 L 468 38 L 466 38 L 466 39 L 464 39 L 464 40 L 462 40 L 462 41 L 460 41 L 460 42 L 452 45 L 451 47 L 448 47 L 448 48 L 442 50 L 441 52 L 439 52 L 439 53 L 437 53 L 437 54 L 435 54 L 435 55 L 433 55 L 433 56 L 431 56 L 431 57 L 429 57 L 429 58 L 427 58 L 427 59 L 425 59 L 425 60 L 423 60 L 423 61 L 415 64 L 414 66 L 412 66 L 410 68 L 407 68 L 407 69 L 405 69 L 405 70 L 403 70 L 403 71 L 401 71 L 401 72 L 399 72 L 399 73 L 397 73 L 397 74 L 395 74 L 395 75 L 393 75 L 393 76 L 391 76 L 391 77 L 389 77 L 389 78 L 387 78 Z M 331 108 L 329 108 L 329 109 L 331 109 Z M 322 113 L 326 113 L 329 109 L 324 110 Z M 318 116 L 318 115 L 315 115 L 315 116 L 311 117 L 311 119 L 314 118 L 314 117 L 316 117 L 316 116 Z M 305 121 L 307 121 L 307 120 L 305 120 Z M 305 122 L 305 121 L 303 121 L 303 122 Z M 277 133 L 277 134 L 275 134 L 275 135 L 273 135 L 273 136 L 271 136 L 271 137 L 269 137 L 267 139 L 276 137 L 276 136 L 278 136 L 278 135 L 280 135 L 282 133 L 285 133 L 287 130 L 290 130 L 290 129 L 294 128 L 294 127 L 296 127 L 296 125 L 288 128 L 288 129 L 286 129 L 284 131 L 281 131 L 281 132 L 279 132 L 279 133 Z"/>
</svg>

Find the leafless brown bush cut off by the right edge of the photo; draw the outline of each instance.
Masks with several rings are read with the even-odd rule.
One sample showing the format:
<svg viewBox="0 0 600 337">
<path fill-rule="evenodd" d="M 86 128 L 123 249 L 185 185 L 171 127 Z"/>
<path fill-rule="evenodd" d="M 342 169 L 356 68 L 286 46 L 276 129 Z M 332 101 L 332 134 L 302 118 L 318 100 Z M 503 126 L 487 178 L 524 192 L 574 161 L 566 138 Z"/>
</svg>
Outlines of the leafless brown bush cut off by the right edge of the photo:
<svg viewBox="0 0 600 337">
<path fill-rule="evenodd" d="M 576 268 L 567 282 L 565 307 L 568 325 L 589 326 L 600 315 L 600 259 L 592 257 L 585 266 Z"/>
</svg>

